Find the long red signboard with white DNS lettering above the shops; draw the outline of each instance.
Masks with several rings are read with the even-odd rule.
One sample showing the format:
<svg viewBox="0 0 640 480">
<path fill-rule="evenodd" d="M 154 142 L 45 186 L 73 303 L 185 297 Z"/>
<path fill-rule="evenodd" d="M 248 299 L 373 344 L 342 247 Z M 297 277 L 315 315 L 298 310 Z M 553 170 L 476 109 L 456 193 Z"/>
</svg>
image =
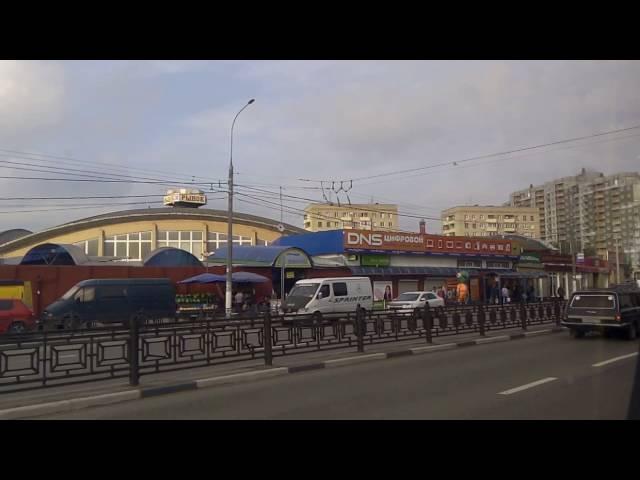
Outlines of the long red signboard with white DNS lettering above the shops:
<svg viewBox="0 0 640 480">
<path fill-rule="evenodd" d="M 370 230 L 345 230 L 343 246 L 345 250 L 358 251 L 511 255 L 509 240 Z"/>
</svg>

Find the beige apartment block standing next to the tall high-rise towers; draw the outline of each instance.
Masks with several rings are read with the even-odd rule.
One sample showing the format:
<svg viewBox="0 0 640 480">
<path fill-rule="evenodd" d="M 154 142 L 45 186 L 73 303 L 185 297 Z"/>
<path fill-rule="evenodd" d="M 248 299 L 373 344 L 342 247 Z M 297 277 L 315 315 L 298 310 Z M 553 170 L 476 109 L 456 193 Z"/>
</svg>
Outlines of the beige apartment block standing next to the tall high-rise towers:
<svg viewBox="0 0 640 480">
<path fill-rule="evenodd" d="M 459 206 L 441 215 L 442 233 L 451 237 L 516 234 L 540 238 L 537 208 Z"/>
</svg>

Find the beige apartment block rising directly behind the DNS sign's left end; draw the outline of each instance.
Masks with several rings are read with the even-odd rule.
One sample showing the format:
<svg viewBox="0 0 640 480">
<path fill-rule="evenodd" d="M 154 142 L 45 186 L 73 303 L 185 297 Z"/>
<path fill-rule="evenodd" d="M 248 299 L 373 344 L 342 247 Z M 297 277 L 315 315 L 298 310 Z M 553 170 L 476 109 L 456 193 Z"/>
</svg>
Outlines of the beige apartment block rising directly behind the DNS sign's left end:
<svg viewBox="0 0 640 480">
<path fill-rule="evenodd" d="M 304 209 L 304 229 L 309 232 L 352 228 L 397 230 L 398 206 L 382 203 L 341 206 L 313 203 Z"/>
</svg>

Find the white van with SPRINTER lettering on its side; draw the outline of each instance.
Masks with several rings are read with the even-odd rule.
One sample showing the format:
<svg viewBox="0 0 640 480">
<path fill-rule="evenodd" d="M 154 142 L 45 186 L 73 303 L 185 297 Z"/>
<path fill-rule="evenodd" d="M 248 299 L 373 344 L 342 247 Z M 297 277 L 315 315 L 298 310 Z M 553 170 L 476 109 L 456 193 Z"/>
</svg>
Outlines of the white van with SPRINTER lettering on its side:
<svg viewBox="0 0 640 480">
<path fill-rule="evenodd" d="M 298 280 L 285 300 L 285 313 L 323 316 L 355 313 L 357 306 L 373 309 L 373 290 L 367 277 L 306 278 Z"/>
</svg>

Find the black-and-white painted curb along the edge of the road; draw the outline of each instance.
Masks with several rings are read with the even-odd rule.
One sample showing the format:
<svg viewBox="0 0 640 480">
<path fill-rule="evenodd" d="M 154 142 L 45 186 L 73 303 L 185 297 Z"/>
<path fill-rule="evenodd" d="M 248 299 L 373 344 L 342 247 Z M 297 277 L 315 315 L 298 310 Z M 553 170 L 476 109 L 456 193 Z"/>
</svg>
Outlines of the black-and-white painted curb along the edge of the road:
<svg viewBox="0 0 640 480">
<path fill-rule="evenodd" d="M 294 365 L 291 367 L 273 367 L 264 370 L 254 370 L 250 372 L 234 373 L 231 375 L 223 375 L 219 377 L 203 378 L 190 382 L 163 385 L 160 387 L 138 388 L 134 390 L 125 390 L 122 392 L 107 393 L 90 397 L 80 397 L 70 400 L 61 400 L 57 402 L 41 403 L 36 405 L 28 405 L 24 407 L 15 407 L 0 410 L 0 420 L 26 419 L 42 415 L 50 415 L 56 413 L 68 413 L 74 410 L 80 410 L 89 407 L 99 407 L 105 405 L 113 405 L 116 403 L 127 402 L 131 400 L 139 400 L 142 398 L 151 398 L 159 395 L 167 395 L 177 392 L 186 392 L 197 390 L 199 388 L 209 388 L 217 385 L 229 385 L 242 383 L 262 378 L 272 378 L 283 375 L 290 375 L 300 372 L 312 370 L 320 370 L 325 368 L 335 368 L 344 365 L 353 365 L 357 363 L 365 363 L 376 360 L 388 360 L 409 355 L 420 355 L 425 353 L 437 352 L 440 350 L 452 350 L 455 348 L 468 348 L 486 343 L 508 342 L 511 340 L 520 340 L 527 337 L 537 335 L 549 335 L 563 331 L 563 328 L 554 327 L 546 330 L 536 330 L 533 332 L 517 333 L 512 335 L 500 335 L 496 337 L 485 337 L 477 340 L 467 340 L 457 343 L 444 343 L 440 345 L 427 345 L 424 347 L 413 347 L 407 350 L 394 350 L 391 352 L 370 353 L 355 357 L 336 358 L 333 360 L 325 360 L 323 362 L 308 363 L 302 365 Z"/>
</svg>

